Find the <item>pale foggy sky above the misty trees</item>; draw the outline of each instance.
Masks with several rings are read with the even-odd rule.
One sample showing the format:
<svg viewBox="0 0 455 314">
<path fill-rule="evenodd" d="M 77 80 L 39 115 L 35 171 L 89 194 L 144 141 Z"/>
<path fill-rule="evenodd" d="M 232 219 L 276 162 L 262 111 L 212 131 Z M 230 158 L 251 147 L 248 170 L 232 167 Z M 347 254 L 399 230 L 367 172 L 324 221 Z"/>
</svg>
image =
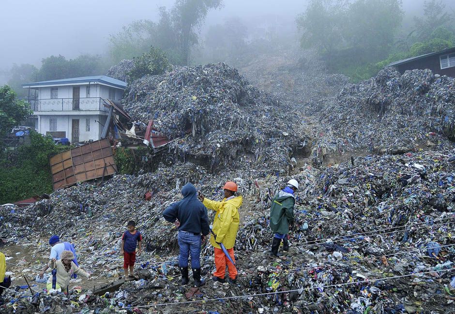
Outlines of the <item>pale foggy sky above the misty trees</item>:
<svg viewBox="0 0 455 314">
<path fill-rule="evenodd" d="M 403 7 L 417 15 L 424 0 L 404 0 Z M 449 1 L 450 2 L 450 1 Z M 13 63 L 39 67 L 50 55 L 67 59 L 80 54 L 106 52 L 109 34 L 138 19 L 157 20 L 157 8 L 170 8 L 174 0 L 1 0 L 0 72 Z M 289 23 L 304 11 L 306 0 L 224 0 L 221 10 L 212 10 L 206 27 L 231 16 L 255 19 L 277 15 Z M 406 19 L 405 19 L 406 21 Z M 6 78 L 0 77 L 0 84 Z"/>
</svg>

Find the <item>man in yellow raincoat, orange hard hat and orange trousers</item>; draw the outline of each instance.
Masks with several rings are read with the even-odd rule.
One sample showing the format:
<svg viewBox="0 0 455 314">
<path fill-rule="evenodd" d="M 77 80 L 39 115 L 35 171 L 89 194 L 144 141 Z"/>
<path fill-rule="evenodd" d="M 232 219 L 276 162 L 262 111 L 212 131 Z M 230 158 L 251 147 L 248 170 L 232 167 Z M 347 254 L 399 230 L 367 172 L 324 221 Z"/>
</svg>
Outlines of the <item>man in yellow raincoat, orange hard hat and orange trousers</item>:
<svg viewBox="0 0 455 314">
<path fill-rule="evenodd" d="M 207 209 L 216 211 L 212 227 L 216 238 L 214 236 L 210 237 L 210 243 L 215 250 L 216 271 L 213 273 L 213 280 L 220 283 L 225 282 L 227 264 L 230 282 L 235 283 L 237 280 L 237 269 L 224 254 L 219 243 L 224 244 L 227 253 L 235 263 L 234 244 L 239 230 L 239 208 L 242 206 L 243 198 L 242 196 L 235 196 L 235 192 L 237 192 L 237 184 L 235 182 L 227 181 L 223 189 L 225 197 L 221 202 L 212 201 L 202 194 L 199 194 L 198 197 Z"/>
</svg>

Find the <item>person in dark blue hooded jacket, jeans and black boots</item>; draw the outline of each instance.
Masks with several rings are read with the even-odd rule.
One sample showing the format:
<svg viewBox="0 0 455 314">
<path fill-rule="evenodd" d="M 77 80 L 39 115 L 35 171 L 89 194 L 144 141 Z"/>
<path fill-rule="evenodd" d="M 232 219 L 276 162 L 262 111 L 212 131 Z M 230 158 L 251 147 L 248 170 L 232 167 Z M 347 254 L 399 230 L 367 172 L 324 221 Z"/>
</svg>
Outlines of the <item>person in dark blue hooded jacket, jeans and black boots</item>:
<svg viewBox="0 0 455 314">
<path fill-rule="evenodd" d="M 163 211 L 163 217 L 178 226 L 180 247 L 179 267 L 182 285 L 188 284 L 188 257 L 191 255 L 191 269 L 195 286 L 205 284 L 201 279 L 201 244 L 210 233 L 206 207 L 197 199 L 196 188 L 187 183 L 182 188 L 183 199 L 172 203 Z"/>
</svg>

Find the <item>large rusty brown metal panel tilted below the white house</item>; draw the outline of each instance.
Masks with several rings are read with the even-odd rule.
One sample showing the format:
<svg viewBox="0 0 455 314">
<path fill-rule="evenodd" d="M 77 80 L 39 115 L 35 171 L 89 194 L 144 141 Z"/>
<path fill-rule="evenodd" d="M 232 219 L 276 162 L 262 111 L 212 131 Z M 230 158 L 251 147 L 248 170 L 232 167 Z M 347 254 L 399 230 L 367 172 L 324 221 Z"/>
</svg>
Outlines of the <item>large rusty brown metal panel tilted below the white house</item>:
<svg viewBox="0 0 455 314">
<path fill-rule="evenodd" d="M 53 156 L 50 166 L 54 190 L 117 172 L 107 138 Z"/>
</svg>

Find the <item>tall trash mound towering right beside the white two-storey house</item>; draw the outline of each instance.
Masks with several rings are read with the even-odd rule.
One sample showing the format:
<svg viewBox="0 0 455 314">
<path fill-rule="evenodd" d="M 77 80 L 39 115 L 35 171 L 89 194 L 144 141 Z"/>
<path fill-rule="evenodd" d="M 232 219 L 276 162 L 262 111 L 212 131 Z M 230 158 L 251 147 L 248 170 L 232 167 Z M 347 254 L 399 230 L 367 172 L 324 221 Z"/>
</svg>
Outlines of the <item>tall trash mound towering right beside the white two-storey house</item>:
<svg viewBox="0 0 455 314">
<path fill-rule="evenodd" d="M 177 160 L 197 160 L 211 171 L 254 168 L 264 175 L 291 166 L 307 144 L 298 112 L 249 85 L 225 63 L 176 67 L 132 82 L 125 110 L 169 139 Z"/>
</svg>

